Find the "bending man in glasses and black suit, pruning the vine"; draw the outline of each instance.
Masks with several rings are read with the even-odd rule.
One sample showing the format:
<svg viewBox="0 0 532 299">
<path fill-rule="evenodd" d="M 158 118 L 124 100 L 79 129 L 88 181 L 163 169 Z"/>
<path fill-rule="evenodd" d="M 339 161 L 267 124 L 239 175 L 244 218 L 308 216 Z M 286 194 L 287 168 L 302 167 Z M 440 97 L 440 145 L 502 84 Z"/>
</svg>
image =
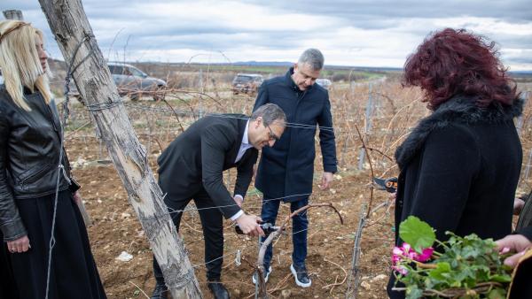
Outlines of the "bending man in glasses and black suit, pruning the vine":
<svg viewBox="0 0 532 299">
<path fill-rule="evenodd" d="M 268 103 L 251 118 L 241 114 L 209 115 L 177 136 L 158 159 L 159 185 L 168 211 L 182 211 L 193 199 L 205 237 L 207 286 L 215 298 L 229 298 L 220 282 L 223 264 L 223 218 L 236 221 L 244 234 L 263 235 L 258 217 L 240 209 L 253 176 L 258 150 L 273 146 L 285 131 L 286 116 Z M 223 171 L 237 167 L 234 196 L 223 185 Z M 172 213 L 179 230 L 182 212 Z M 157 284 L 152 298 L 166 297 L 167 287 L 155 258 Z"/>
</svg>

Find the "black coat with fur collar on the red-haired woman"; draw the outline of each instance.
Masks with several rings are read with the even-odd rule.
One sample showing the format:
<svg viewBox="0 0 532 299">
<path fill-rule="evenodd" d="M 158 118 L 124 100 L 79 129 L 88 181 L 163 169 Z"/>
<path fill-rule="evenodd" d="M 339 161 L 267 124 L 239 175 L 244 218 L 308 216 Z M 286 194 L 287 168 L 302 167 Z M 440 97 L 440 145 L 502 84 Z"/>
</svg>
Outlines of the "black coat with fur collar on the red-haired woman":
<svg viewBox="0 0 532 299">
<path fill-rule="evenodd" d="M 480 108 L 471 97 L 455 96 L 421 119 L 395 151 L 397 245 L 399 224 L 410 215 L 433 226 L 441 241 L 446 231 L 494 240 L 512 233 L 522 160 L 513 118 L 521 111 L 520 100 Z"/>
</svg>

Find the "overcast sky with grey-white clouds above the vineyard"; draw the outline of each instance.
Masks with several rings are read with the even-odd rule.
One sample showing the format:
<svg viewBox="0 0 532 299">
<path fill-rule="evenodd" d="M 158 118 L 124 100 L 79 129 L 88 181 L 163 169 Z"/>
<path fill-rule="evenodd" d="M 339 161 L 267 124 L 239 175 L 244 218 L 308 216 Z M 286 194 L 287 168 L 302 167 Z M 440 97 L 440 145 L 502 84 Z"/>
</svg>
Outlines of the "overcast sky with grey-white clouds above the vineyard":
<svg viewBox="0 0 532 299">
<path fill-rule="evenodd" d="M 161 62 L 295 61 L 318 48 L 326 65 L 402 67 L 431 31 L 472 30 L 497 42 L 512 71 L 532 70 L 532 4 L 525 0 L 84 0 L 106 58 Z M 44 29 L 37 0 L 0 0 Z"/>
</svg>

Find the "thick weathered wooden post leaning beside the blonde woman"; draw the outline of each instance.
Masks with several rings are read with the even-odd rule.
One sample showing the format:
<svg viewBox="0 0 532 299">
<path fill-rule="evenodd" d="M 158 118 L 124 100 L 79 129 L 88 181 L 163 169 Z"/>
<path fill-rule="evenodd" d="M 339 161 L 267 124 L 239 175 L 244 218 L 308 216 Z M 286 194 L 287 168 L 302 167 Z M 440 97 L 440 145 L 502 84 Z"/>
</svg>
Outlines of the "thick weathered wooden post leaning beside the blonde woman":
<svg viewBox="0 0 532 299">
<path fill-rule="evenodd" d="M 65 61 L 129 195 L 173 298 L 201 298 L 194 269 L 171 221 L 162 192 L 121 103 L 81 0 L 39 0 Z M 74 52 L 78 45 L 77 54 Z M 86 60 L 82 61 L 83 58 Z M 102 181 L 102 184 L 107 182 Z"/>
</svg>

